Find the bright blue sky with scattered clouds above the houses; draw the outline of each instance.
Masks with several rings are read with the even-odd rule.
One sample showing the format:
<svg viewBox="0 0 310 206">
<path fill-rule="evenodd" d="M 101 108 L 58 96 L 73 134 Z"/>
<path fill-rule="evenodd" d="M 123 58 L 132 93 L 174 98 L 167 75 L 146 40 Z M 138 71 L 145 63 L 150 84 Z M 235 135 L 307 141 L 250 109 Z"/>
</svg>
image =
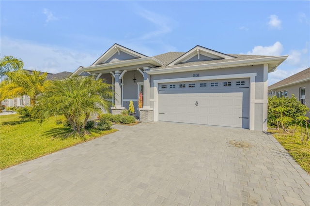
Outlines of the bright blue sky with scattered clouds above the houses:
<svg viewBox="0 0 310 206">
<path fill-rule="evenodd" d="M 201 45 L 290 55 L 271 85 L 310 67 L 310 1 L 3 1 L 1 56 L 25 69 L 74 72 L 114 43 L 147 56 Z"/>
</svg>

